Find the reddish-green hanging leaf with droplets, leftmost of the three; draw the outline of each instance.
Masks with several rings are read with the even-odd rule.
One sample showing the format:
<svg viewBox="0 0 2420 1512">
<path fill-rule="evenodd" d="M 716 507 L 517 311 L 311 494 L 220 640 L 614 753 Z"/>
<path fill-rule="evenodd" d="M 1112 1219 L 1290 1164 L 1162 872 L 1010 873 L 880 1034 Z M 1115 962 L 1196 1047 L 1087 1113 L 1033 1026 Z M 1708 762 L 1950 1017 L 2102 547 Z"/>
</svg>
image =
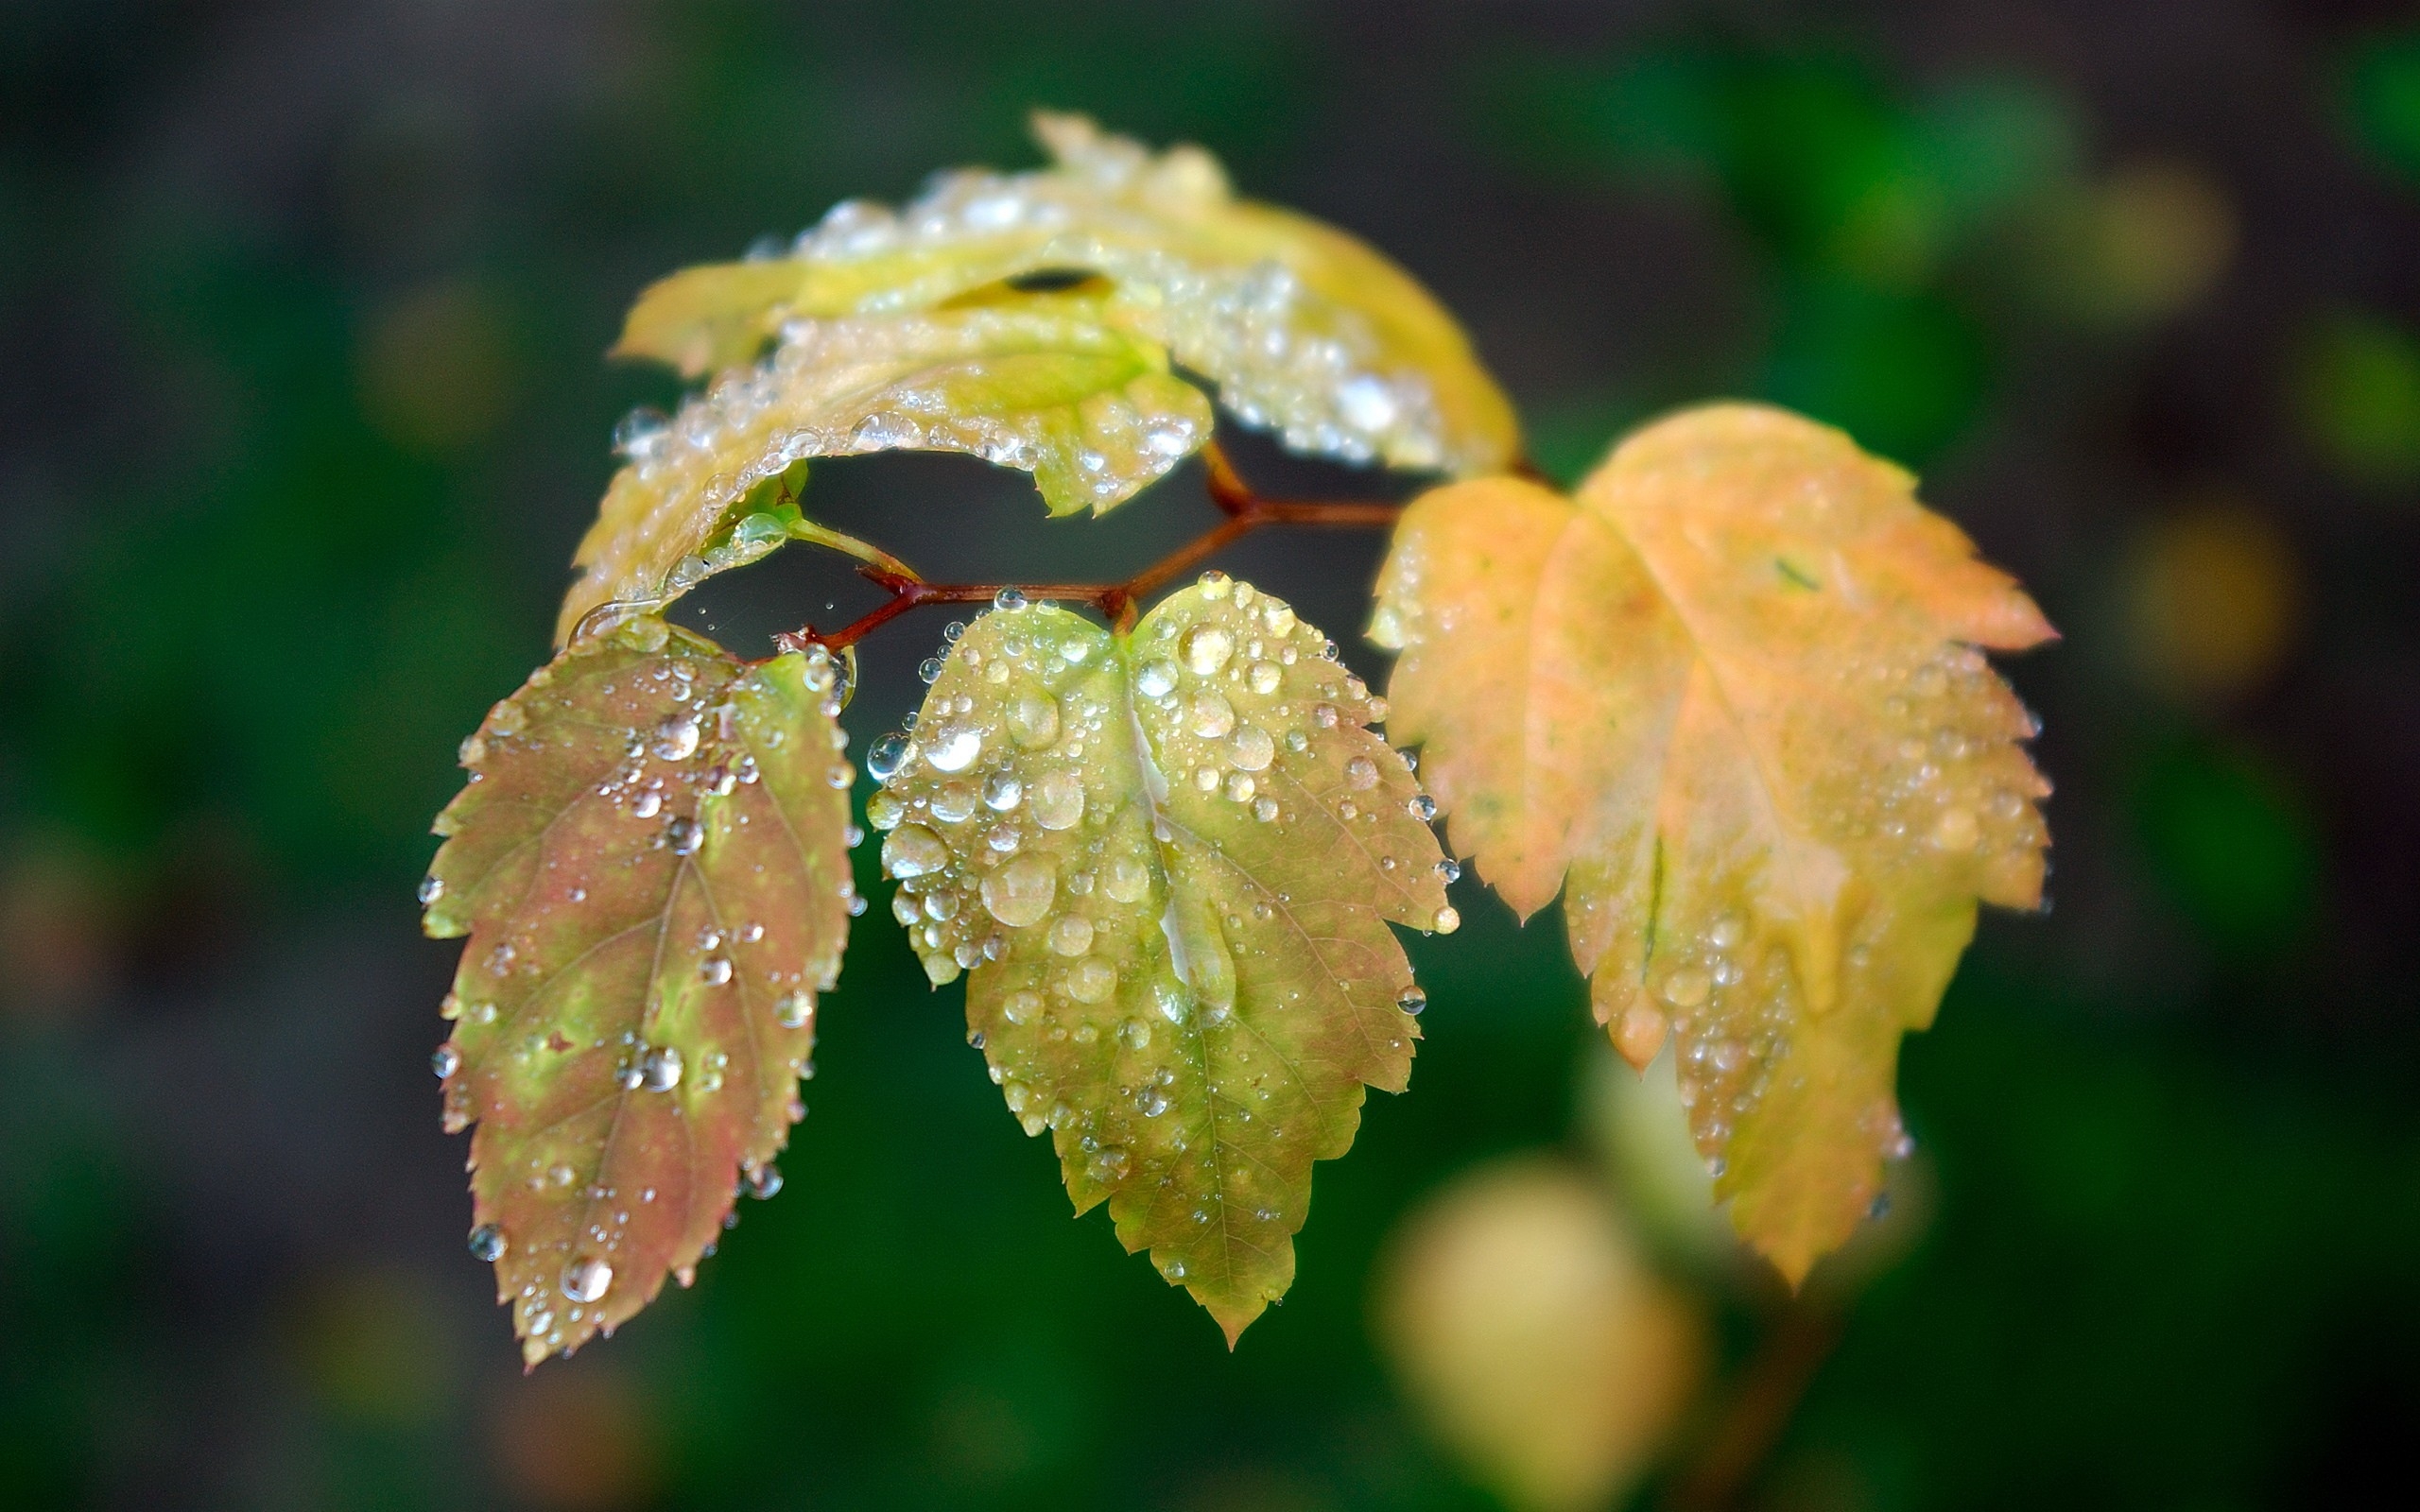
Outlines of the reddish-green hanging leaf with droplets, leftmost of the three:
<svg viewBox="0 0 2420 1512">
<path fill-rule="evenodd" d="M 426 885 L 428 934 L 469 934 L 438 1069 L 530 1364 L 685 1280 L 803 1113 L 849 927 L 830 689 L 823 656 L 636 619 L 465 743 Z"/>
</svg>

